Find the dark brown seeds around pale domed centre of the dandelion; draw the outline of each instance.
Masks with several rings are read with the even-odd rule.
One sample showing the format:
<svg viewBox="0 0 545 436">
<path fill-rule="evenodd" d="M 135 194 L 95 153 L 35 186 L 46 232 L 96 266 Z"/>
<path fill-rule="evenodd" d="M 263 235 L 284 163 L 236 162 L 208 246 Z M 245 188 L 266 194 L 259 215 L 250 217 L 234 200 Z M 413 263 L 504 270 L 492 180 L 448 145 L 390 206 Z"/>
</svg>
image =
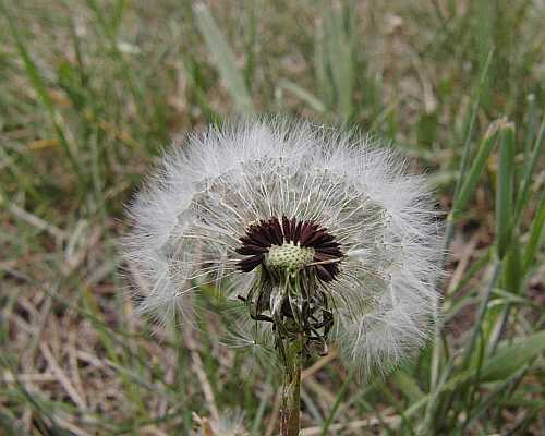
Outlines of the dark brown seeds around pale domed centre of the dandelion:
<svg viewBox="0 0 545 436">
<path fill-rule="evenodd" d="M 249 272 L 258 265 L 270 267 L 314 268 L 323 281 L 339 272 L 343 254 L 335 237 L 314 221 L 298 221 L 286 216 L 271 217 L 251 225 L 240 239 L 237 253 L 245 256 L 239 268 Z"/>
</svg>

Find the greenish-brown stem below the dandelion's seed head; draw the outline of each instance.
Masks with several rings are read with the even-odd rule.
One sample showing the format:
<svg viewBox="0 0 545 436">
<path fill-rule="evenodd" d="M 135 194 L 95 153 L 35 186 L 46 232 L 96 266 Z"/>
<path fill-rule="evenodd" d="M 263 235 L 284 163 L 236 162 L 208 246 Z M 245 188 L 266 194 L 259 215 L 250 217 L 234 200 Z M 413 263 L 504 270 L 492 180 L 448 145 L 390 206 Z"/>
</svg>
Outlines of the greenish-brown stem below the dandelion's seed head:
<svg viewBox="0 0 545 436">
<path fill-rule="evenodd" d="M 280 409 L 280 436 L 299 435 L 301 367 L 303 363 L 303 336 L 287 341 L 283 365 L 282 405 Z"/>
</svg>

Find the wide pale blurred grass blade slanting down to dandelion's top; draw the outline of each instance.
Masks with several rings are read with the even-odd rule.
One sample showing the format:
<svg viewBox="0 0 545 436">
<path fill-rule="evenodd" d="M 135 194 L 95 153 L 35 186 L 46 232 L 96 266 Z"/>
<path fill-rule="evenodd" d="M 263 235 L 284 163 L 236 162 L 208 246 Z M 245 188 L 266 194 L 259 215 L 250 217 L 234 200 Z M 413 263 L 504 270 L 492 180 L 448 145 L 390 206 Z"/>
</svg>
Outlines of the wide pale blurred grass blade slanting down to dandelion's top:
<svg viewBox="0 0 545 436">
<path fill-rule="evenodd" d="M 194 7 L 197 25 L 205 38 L 206 46 L 210 51 L 211 59 L 225 81 L 227 90 L 233 99 L 234 106 L 240 113 L 252 113 L 254 111 L 252 99 L 244 84 L 244 77 L 234 61 L 234 55 L 229 47 L 226 37 L 219 31 L 208 8 L 198 3 Z"/>
</svg>

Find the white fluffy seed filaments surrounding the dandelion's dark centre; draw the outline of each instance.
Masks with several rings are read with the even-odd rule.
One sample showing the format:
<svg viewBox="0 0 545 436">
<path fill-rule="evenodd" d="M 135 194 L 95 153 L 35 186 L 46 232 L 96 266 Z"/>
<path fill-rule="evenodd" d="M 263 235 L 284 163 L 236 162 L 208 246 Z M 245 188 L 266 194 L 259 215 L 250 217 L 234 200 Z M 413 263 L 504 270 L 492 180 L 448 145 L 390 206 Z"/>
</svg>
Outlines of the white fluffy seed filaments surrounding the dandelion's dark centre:
<svg viewBox="0 0 545 436">
<path fill-rule="evenodd" d="M 354 366 L 385 368 L 433 330 L 440 226 L 432 205 L 423 177 L 379 143 L 305 122 L 241 121 L 165 155 L 130 207 L 125 259 L 147 288 L 142 312 L 186 319 L 196 283 L 246 293 L 256 272 L 238 270 L 234 250 L 251 222 L 315 220 L 347 254 L 325 283 L 332 340 Z"/>
</svg>

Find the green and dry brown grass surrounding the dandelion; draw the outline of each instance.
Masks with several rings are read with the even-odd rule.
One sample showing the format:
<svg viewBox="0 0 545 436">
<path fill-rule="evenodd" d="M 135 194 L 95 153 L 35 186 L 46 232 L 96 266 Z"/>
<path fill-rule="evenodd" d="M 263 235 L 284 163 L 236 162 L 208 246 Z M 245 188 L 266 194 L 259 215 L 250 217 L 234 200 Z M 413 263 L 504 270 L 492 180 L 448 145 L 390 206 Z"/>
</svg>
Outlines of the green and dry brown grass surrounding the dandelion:
<svg viewBox="0 0 545 436">
<path fill-rule="evenodd" d="M 116 252 L 162 147 L 252 112 L 391 140 L 447 217 L 436 341 L 367 385 L 311 362 L 302 435 L 540 434 L 543 5 L 192 3 L 0 1 L 0 434 L 189 435 L 228 410 L 275 434 L 277 377 L 220 319 L 136 319 Z"/>
</svg>

